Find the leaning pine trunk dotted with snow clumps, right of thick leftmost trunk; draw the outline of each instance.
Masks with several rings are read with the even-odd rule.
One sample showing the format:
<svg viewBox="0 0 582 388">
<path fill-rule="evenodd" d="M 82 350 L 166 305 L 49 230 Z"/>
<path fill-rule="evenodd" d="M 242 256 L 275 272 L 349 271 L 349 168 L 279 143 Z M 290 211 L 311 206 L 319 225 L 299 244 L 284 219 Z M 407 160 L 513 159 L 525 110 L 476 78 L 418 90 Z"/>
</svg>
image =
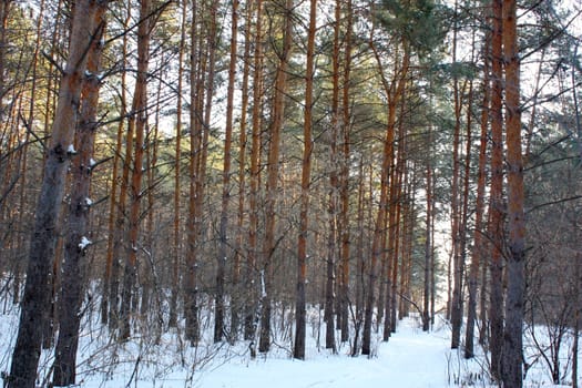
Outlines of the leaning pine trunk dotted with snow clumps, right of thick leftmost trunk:
<svg viewBox="0 0 582 388">
<path fill-rule="evenodd" d="M 88 54 L 83 101 L 76 129 L 78 156 L 72 162 L 72 188 L 70 193 L 69 219 L 64 234 L 64 262 L 59 302 L 59 337 L 54 348 L 53 386 L 64 387 L 75 382 L 76 347 L 81 324 L 81 303 L 86 276 L 85 255 L 90 246 L 86 237 L 90 200 L 91 173 L 94 162 L 93 145 L 98 126 L 96 110 L 101 80 L 101 37 L 105 28 L 106 2 L 99 2 L 93 16 L 92 28 L 96 29 Z"/>
</svg>

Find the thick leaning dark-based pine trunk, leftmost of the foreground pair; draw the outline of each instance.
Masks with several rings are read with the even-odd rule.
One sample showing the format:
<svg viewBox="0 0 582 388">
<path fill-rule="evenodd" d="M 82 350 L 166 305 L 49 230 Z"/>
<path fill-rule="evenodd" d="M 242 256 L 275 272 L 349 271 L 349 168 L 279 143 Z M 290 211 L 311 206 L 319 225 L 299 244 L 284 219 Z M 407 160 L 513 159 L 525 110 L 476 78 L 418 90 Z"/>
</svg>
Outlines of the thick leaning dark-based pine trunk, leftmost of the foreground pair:
<svg viewBox="0 0 582 388">
<path fill-rule="evenodd" d="M 37 203 L 27 284 L 8 381 L 10 388 L 34 387 L 42 344 L 42 325 L 39 325 L 39 321 L 43 321 L 48 313 L 48 275 L 54 259 L 54 245 L 59 234 L 57 221 L 62 206 L 67 169 L 73 151 L 76 104 L 86 67 L 86 50 L 94 33 L 88 27 L 91 25 L 95 9 L 95 2 L 90 0 L 80 0 L 74 8 L 70 53 L 61 80 L 44 176 Z"/>
</svg>

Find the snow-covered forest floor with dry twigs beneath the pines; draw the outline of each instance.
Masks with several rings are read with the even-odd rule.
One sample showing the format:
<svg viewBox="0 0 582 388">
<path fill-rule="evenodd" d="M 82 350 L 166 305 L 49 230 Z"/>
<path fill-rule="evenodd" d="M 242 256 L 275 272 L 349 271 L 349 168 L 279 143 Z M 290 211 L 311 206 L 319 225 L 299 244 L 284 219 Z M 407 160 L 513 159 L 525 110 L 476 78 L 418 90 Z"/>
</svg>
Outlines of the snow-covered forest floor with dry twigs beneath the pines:
<svg viewBox="0 0 582 388">
<path fill-rule="evenodd" d="M 374 356 L 368 358 L 350 357 L 349 344 L 340 345 L 337 354 L 325 349 L 318 341 L 318 337 L 325 340 L 325 329 L 318 313 L 313 313 L 304 361 L 290 357 L 290 327 L 280 326 L 272 351 L 252 359 L 248 341 L 215 345 L 205 337 L 198 347 L 191 347 L 175 331 L 162 335 L 156 343 L 142 336 L 118 344 L 98 325 L 98 317 L 89 318 L 79 347 L 79 387 L 494 387 L 482 353 L 467 361 L 461 351 L 450 349 L 450 329 L 441 318 L 430 333 L 421 330 L 418 318 L 400 320 L 388 343 L 381 341 L 380 334 L 375 335 Z M 210 323 L 204 330 L 208 335 Z M 0 315 L 0 371 L 9 370 L 17 326 L 17 314 L 4 310 Z M 48 386 L 51 364 L 52 353 L 47 350 L 41 358 L 40 387 Z M 540 361 L 530 369 L 525 386 L 557 387 L 549 381 Z"/>
</svg>

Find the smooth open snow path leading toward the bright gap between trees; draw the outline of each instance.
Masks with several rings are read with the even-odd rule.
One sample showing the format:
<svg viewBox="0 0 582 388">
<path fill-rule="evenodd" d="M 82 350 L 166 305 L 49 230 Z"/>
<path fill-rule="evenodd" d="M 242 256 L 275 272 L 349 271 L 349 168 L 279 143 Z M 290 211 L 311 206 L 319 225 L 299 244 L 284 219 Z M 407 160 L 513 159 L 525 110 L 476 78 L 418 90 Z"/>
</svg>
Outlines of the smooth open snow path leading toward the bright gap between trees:
<svg viewBox="0 0 582 388">
<path fill-rule="evenodd" d="M 447 387 L 448 330 L 422 333 L 418 323 L 404 320 L 372 359 L 331 356 L 325 350 L 305 361 L 257 359 L 225 364 L 198 376 L 196 386 L 213 388 L 442 388 Z"/>
</svg>

